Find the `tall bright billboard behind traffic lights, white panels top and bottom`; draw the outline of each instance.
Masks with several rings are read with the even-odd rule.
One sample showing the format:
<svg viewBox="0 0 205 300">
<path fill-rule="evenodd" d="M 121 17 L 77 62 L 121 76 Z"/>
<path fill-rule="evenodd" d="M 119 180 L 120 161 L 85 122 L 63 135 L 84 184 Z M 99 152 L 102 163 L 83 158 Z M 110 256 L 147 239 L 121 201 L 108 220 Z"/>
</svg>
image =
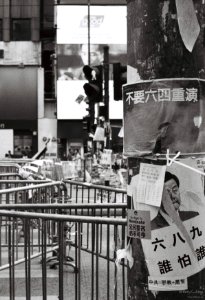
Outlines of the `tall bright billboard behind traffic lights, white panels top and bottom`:
<svg viewBox="0 0 205 300">
<path fill-rule="evenodd" d="M 87 5 L 57 6 L 57 118 L 80 120 L 87 114 L 85 103 L 76 105 L 85 95 L 83 66 L 104 61 L 104 46 L 109 46 L 109 63 L 127 65 L 127 7 L 90 6 L 90 62 L 88 60 Z M 113 100 L 112 66 L 109 81 L 109 118 L 123 118 L 122 101 Z M 72 107 L 72 109 L 71 109 Z M 86 106 L 87 107 L 87 106 Z"/>
</svg>

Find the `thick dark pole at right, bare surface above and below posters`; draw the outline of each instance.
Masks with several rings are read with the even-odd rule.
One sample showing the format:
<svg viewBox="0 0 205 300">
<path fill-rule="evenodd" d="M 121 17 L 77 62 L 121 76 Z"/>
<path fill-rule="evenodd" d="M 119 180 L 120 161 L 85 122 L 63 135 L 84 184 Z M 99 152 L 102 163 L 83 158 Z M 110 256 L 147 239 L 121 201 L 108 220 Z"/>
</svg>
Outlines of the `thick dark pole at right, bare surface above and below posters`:
<svg viewBox="0 0 205 300">
<path fill-rule="evenodd" d="M 128 68 L 128 83 L 165 78 L 204 79 L 204 24 L 203 0 L 127 0 L 127 52 L 131 67 Z M 204 152 L 205 147 L 201 151 Z M 165 298 L 155 297 L 148 291 L 149 274 L 141 241 L 133 238 L 131 243 L 134 264 L 128 272 L 129 300 L 192 298 L 189 291 L 183 296 L 170 291 Z M 205 277 L 200 276 L 204 286 Z"/>
</svg>

